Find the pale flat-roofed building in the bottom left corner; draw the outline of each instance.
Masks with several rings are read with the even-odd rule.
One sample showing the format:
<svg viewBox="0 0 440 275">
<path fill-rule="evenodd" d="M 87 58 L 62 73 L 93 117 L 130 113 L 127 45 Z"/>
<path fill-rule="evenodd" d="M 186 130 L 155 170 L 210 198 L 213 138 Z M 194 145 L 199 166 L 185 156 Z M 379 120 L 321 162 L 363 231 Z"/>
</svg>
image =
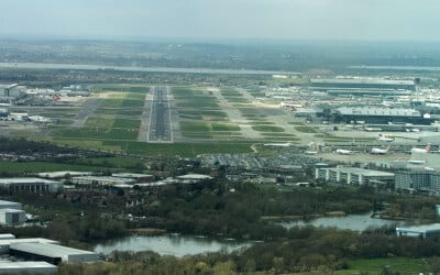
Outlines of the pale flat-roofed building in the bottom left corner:
<svg viewBox="0 0 440 275">
<path fill-rule="evenodd" d="M 55 274 L 58 268 L 56 265 L 46 262 L 0 262 L 0 274 Z"/>
</svg>

